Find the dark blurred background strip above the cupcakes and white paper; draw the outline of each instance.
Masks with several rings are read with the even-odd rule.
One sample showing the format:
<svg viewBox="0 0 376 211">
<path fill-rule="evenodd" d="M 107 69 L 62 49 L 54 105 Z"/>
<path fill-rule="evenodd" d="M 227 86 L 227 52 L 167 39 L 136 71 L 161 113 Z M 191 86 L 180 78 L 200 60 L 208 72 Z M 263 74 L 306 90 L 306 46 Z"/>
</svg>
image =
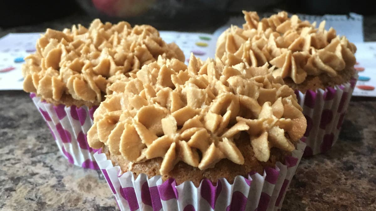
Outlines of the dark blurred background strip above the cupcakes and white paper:
<svg viewBox="0 0 376 211">
<path fill-rule="evenodd" d="M 190 30 L 196 25 L 219 27 L 241 10 L 323 15 L 376 14 L 374 0 L 64 0 L 1 1 L 0 27 L 38 24 L 74 17 L 86 24 L 93 18 L 131 24 L 152 24 L 159 30 Z M 69 21 L 68 21 L 69 22 Z M 72 21 L 70 21 L 72 22 Z M 182 27 L 184 26 L 184 27 Z M 197 28 L 197 27 L 196 27 Z"/>
</svg>

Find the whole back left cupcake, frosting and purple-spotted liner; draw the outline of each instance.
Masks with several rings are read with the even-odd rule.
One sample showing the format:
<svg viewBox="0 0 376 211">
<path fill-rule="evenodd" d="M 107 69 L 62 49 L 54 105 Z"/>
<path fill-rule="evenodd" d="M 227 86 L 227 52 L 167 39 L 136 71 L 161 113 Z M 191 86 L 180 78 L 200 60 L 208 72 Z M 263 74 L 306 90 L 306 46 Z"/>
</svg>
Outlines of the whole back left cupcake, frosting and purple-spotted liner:
<svg viewBox="0 0 376 211">
<path fill-rule="evenodd" d="M 98 169 L 86 134 L 92 115 L 108 87 L 129 77 L 158 56 L 184 61 L 176 44 L 166 44 L 148 25 L 127 22 L 90 27 L 47 29 L 36 43 L 36 53 L 22 66 L 23 89 L 30 92 L 60 151 L 70 163 Z"/>
</svg>

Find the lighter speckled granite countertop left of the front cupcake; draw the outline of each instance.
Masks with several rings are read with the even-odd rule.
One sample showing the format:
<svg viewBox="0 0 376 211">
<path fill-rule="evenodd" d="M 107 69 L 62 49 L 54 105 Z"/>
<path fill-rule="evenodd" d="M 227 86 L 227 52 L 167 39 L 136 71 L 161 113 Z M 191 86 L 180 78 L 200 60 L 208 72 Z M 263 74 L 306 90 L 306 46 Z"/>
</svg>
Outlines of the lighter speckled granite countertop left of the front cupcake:
<svg viewBox="0 0 376 211">
<path fill-rule="evenodd" d="M 0 210 L 115 209 L 102 173 L 67 162 L 27 93 L 0 102 Z"/>
</svg>

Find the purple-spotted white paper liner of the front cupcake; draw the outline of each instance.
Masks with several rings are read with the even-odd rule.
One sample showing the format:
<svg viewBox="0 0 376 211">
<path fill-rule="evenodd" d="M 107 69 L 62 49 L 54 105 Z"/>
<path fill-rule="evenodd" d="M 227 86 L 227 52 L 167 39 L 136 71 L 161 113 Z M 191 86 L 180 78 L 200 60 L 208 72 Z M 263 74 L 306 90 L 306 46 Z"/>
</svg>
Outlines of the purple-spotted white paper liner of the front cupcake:
<svg viewBox="0 0 376 211">
<path fill-rule="evenodd" d="M 236 176 L 233 184 L 221 178 L 215 186 L 203 179 L 199 187 L 191 181 L 176 185 L 172 178 L 163 182 L 161 176 L 148 179 L 140 174 L 135 179 L 132 172 L 121 173 L 120 166 L 113 166 L 102 150 L 94 157 L 121 211 L 270 211 L 280 210 L 305 146 L 298 143 L 285 164 L 265 168 L 262 175 L 250 172 L 247 177 Z"/>
</svg>

